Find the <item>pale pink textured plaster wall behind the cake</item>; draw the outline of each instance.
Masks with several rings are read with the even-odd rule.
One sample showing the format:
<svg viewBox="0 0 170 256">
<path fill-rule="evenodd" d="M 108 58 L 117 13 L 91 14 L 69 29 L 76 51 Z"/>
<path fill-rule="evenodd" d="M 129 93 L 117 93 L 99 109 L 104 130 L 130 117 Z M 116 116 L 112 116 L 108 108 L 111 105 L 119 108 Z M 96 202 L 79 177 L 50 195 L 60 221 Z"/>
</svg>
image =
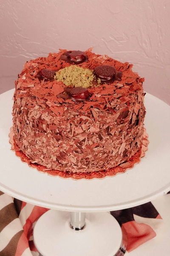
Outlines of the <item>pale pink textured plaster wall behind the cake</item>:
<svg viewBox="0 0 170 256">
<path fill-rule="evenodd" d="M 0 0 L 0 92 L 31 58 L 58 48 L 134 64 L 144 89 L 170 104 L 169 0 Z"/>
</svg>

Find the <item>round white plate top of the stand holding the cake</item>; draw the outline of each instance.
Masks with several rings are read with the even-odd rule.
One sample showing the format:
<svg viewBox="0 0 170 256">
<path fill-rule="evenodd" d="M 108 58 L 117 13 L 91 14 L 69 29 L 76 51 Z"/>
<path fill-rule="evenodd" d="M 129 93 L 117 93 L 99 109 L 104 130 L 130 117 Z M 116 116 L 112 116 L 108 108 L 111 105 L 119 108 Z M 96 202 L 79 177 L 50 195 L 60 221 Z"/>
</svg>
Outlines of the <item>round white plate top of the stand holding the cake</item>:
<svg viewBox="0 0 170 256">
<path fill-rule="evenodd" d="M 133 169 L 114 177 L 73 180 L 30 168 L 11 151 L 14 90 L 0 95 L 0 190 L 31 204 L 65 211 L 101 212 L 153 200 L 170 190 L 170 106 L 146 94 L 149 149 Z"/>
</svg>

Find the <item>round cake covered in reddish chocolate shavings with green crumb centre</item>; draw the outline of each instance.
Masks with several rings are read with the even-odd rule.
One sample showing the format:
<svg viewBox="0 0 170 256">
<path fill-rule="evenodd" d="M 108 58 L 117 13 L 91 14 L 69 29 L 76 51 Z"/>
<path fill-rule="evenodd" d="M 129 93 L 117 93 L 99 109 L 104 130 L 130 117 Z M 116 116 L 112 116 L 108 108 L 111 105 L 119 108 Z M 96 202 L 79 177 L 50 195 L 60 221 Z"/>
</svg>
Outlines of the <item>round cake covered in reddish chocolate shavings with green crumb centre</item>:
<svg viewBox="0 0 170 256">
<path fill-rule="evenodd" d="M 144 79 L 108 55 L 59 49 L 15 83 L 14 141 L 31 163 L 62 172 L 126 166 L 142 147 Z"/>
</svg>

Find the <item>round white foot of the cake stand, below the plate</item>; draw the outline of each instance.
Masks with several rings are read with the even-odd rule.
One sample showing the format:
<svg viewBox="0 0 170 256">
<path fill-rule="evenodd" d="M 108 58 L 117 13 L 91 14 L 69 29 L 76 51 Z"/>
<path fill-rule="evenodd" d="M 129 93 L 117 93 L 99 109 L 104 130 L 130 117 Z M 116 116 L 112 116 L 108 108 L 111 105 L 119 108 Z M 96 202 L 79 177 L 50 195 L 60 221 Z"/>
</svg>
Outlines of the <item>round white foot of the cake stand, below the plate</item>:
<svg viewBox="0 0 170 256">
<path fill-rule="evenodd" d="M 49 210 L 34 227 L 34 244 L 42 256 L 114 256 L 122 231 L 108 212 L 87 213 L 85 228 L 70 227 L 70 212 Z"/>
</svg>

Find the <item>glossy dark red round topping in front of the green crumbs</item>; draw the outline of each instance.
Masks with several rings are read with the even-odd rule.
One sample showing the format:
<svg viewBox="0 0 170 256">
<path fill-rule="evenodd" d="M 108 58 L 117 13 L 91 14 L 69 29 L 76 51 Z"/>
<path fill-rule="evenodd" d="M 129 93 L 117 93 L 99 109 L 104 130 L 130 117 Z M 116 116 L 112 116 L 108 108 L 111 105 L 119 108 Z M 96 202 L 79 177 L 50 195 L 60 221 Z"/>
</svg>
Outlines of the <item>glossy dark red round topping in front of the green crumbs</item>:
<svg viewBox="0 0 170 256">
<path fill-rule="evenodd" d="M 89 93 L 88 89 L 83 87 L 74 87 L 70 91 L 71 99 L 82 101 L 88 99 L 91 94 Z"/>
</svg>

